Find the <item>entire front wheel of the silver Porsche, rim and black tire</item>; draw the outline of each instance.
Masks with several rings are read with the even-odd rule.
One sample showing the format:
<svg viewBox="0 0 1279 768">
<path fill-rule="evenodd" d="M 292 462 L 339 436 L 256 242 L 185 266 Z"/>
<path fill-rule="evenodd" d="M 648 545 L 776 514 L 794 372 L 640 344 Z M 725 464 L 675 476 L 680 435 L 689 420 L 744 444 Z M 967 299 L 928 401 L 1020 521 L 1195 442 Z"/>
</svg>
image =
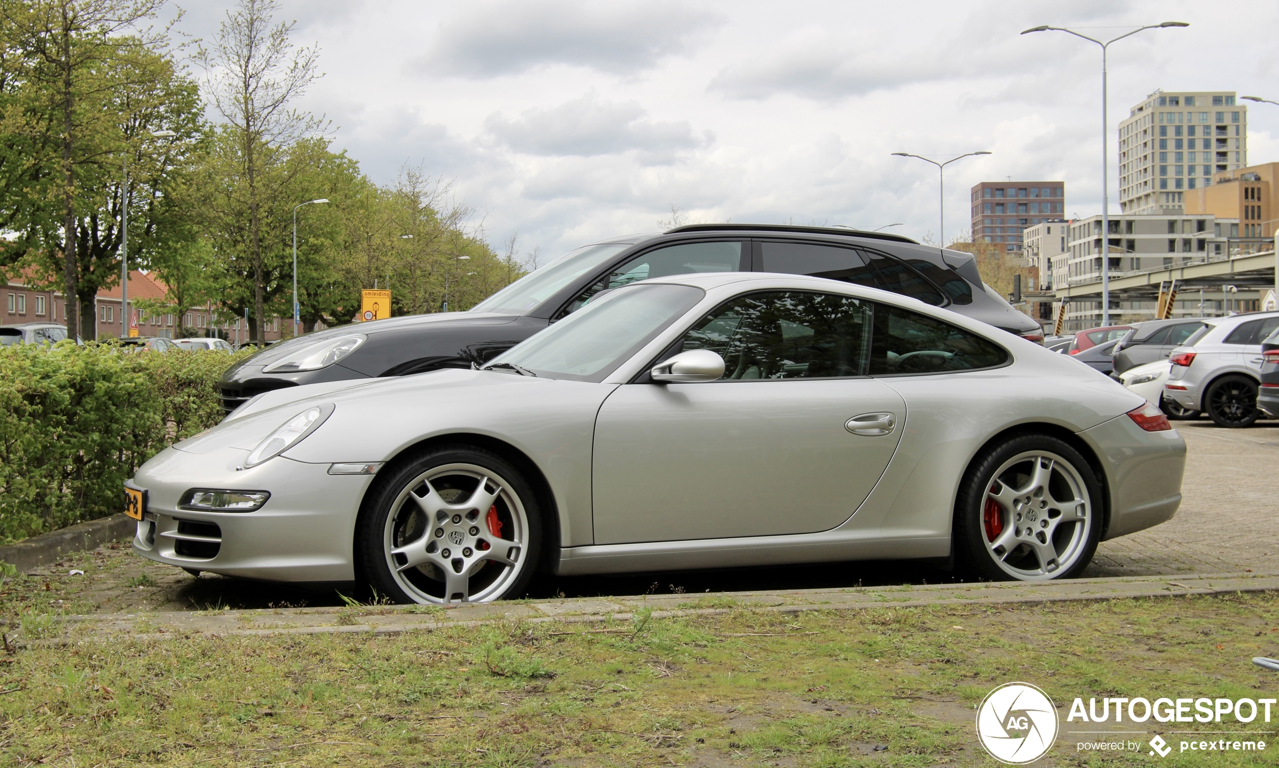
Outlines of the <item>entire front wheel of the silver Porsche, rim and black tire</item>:
<svg viewBox="0 0 1279 768">
<path fill-rule="evenodd" d="M 532 576 L 540 541 L 533 495 L 501 457 L 434 451 L 381 478 L 361 518 L 365 578 L 396 602 L 487 602 Z"/>
</svg>

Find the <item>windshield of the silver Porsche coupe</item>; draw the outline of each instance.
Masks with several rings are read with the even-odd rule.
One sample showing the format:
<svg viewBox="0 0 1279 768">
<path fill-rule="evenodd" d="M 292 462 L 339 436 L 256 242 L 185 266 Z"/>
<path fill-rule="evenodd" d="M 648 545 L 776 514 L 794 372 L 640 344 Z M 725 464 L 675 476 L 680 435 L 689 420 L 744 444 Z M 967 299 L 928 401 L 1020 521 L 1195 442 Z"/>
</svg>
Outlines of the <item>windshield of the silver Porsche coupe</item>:
<svg viewBox="0 0 1279 768">
<path fill-rule="evenodd" d="M 494 359 L 538 376 L 604 381 L 703 296 L 688 285 L 619 288 Z"/>
</svg>

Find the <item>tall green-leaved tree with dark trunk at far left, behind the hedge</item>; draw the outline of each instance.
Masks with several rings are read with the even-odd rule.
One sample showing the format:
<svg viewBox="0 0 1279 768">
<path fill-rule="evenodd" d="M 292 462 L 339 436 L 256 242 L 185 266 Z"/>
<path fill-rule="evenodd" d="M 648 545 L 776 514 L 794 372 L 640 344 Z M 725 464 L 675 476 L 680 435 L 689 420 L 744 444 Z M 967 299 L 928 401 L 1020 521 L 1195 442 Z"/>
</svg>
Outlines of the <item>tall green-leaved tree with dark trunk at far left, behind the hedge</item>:
<svg viewBox="0 0 1279 768">
<path fill-rule="evenodd" d="M 29 184 L 12 221 L 26 238 L 8 253 L 15 258 L 32 247 L 60 253 L 72 334 L 92 334 L 93 295 L 110 280 L 92 254 L 83 259 L 81 248 L 91 235 L 82 224 L 97 213 L 83 210 L 86 201 L 105 197 L 109 158 L 128 148 L 132 115 L 118 111 L 120 96 L 155 79 L 155 60 L 164 59 L 168 45 L 164 32 L 128 32 L 145 27 L 161 5 L 164 0 L 0 0 L 4 42 L 15 51 L 6 65 L 24 91 L 20 104 L 10 105 L 5 129 L 22 132 L 32 152 L 23 173 Z M 79 312 L 70 309 L 77 305 Z"/>
</svg>

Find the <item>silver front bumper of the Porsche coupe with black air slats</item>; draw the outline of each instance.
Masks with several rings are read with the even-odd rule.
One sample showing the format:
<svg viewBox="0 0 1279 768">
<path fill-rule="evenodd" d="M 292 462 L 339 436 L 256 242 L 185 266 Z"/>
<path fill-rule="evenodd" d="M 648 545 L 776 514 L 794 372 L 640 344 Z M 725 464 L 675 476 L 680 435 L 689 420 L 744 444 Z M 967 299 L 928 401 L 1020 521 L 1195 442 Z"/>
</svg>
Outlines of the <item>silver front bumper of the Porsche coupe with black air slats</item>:
<svg viewBox="0 0 1279 768">
<path fill-rule="evenodd" d="M 168 449 L 132 484 L 147 491 L 133 551 L 178 567 L 272 581 L 349 581 L 352 543 L 370 475 L 330 475 L 329 464 L 276 456 L 237 472 L 248 451 Z M 270 491 L 253 512 L 178 509 L 191 488 Z"/>
</svg>

